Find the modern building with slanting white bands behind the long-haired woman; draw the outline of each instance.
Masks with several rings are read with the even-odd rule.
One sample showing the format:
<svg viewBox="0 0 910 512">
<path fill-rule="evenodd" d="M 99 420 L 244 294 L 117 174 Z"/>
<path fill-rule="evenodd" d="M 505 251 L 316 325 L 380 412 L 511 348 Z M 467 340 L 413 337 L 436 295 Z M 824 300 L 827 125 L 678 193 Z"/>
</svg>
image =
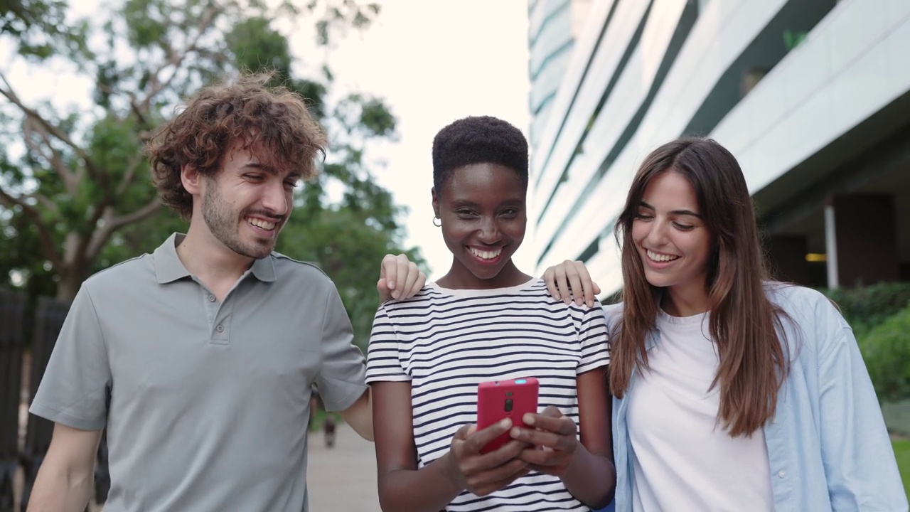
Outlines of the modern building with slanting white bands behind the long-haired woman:
<svg viewBox="0 0 910 512">
<path fill-rule="evenodd" d="M 743 166 L 779 278 L 910 280 L 910 1 L 592 0 L 577 36 L 569 4 L 530 4 L 539 271 L 617 291 L 632 174 L 697 134 Z"/>
</svg>

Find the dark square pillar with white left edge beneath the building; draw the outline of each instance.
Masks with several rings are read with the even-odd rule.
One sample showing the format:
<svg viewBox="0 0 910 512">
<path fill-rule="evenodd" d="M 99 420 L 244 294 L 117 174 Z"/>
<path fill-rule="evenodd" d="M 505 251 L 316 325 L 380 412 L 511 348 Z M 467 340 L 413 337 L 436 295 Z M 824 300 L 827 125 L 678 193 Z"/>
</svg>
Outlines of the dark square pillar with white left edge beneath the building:
<svg viewBox="0 0 910 512">
<path fill-rule="evenodd" d="M 825 208 L 825 237 L 829 287 L 900 280 L 894 197 L 835 196 Z"/>
</svg>

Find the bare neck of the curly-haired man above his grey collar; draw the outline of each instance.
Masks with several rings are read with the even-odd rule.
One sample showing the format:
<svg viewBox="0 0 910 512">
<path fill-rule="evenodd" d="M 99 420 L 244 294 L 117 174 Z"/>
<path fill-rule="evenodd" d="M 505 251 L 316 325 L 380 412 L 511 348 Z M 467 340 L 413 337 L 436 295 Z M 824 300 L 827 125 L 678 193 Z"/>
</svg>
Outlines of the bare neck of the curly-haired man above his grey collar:
<svg viewBox="0 0 910 512">
<path fill-rule="evenodd" d="M 201 224 L 201 225 L 200 225 Z M 253 259 L 230 250 L 207 230 L 205 222 L 190 222 L 187 236 L 177 246 L 177 257 L 207 285 L 236 282 Z"/>
</svg>

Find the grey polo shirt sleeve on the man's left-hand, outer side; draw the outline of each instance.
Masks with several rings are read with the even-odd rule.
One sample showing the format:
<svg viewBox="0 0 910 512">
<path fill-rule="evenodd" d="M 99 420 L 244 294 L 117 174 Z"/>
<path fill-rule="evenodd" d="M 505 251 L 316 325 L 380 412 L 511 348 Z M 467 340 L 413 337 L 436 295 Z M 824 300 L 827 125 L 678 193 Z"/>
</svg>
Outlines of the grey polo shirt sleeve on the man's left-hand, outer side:
<svg viewBox="0 0 910 512">
<path fill-rule="evenodd" d="M 80 430 L 101 430 L 111 387 L 107 347 L 86 284 L 66 313 L 29 411 Z"/>
</svg>

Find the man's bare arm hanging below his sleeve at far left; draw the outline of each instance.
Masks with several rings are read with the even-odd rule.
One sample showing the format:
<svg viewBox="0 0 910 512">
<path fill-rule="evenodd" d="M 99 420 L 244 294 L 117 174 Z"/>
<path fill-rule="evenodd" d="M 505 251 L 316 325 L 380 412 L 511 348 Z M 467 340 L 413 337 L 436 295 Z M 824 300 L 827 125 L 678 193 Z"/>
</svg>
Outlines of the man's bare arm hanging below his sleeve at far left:
<svg viewBox="0 0 910 512">
<path fill-rule="evenodd" d="M 38 469 L 29 512 L 82 512 L 92 495 L 100 430 L 56 424 Z"/>
</svg>

